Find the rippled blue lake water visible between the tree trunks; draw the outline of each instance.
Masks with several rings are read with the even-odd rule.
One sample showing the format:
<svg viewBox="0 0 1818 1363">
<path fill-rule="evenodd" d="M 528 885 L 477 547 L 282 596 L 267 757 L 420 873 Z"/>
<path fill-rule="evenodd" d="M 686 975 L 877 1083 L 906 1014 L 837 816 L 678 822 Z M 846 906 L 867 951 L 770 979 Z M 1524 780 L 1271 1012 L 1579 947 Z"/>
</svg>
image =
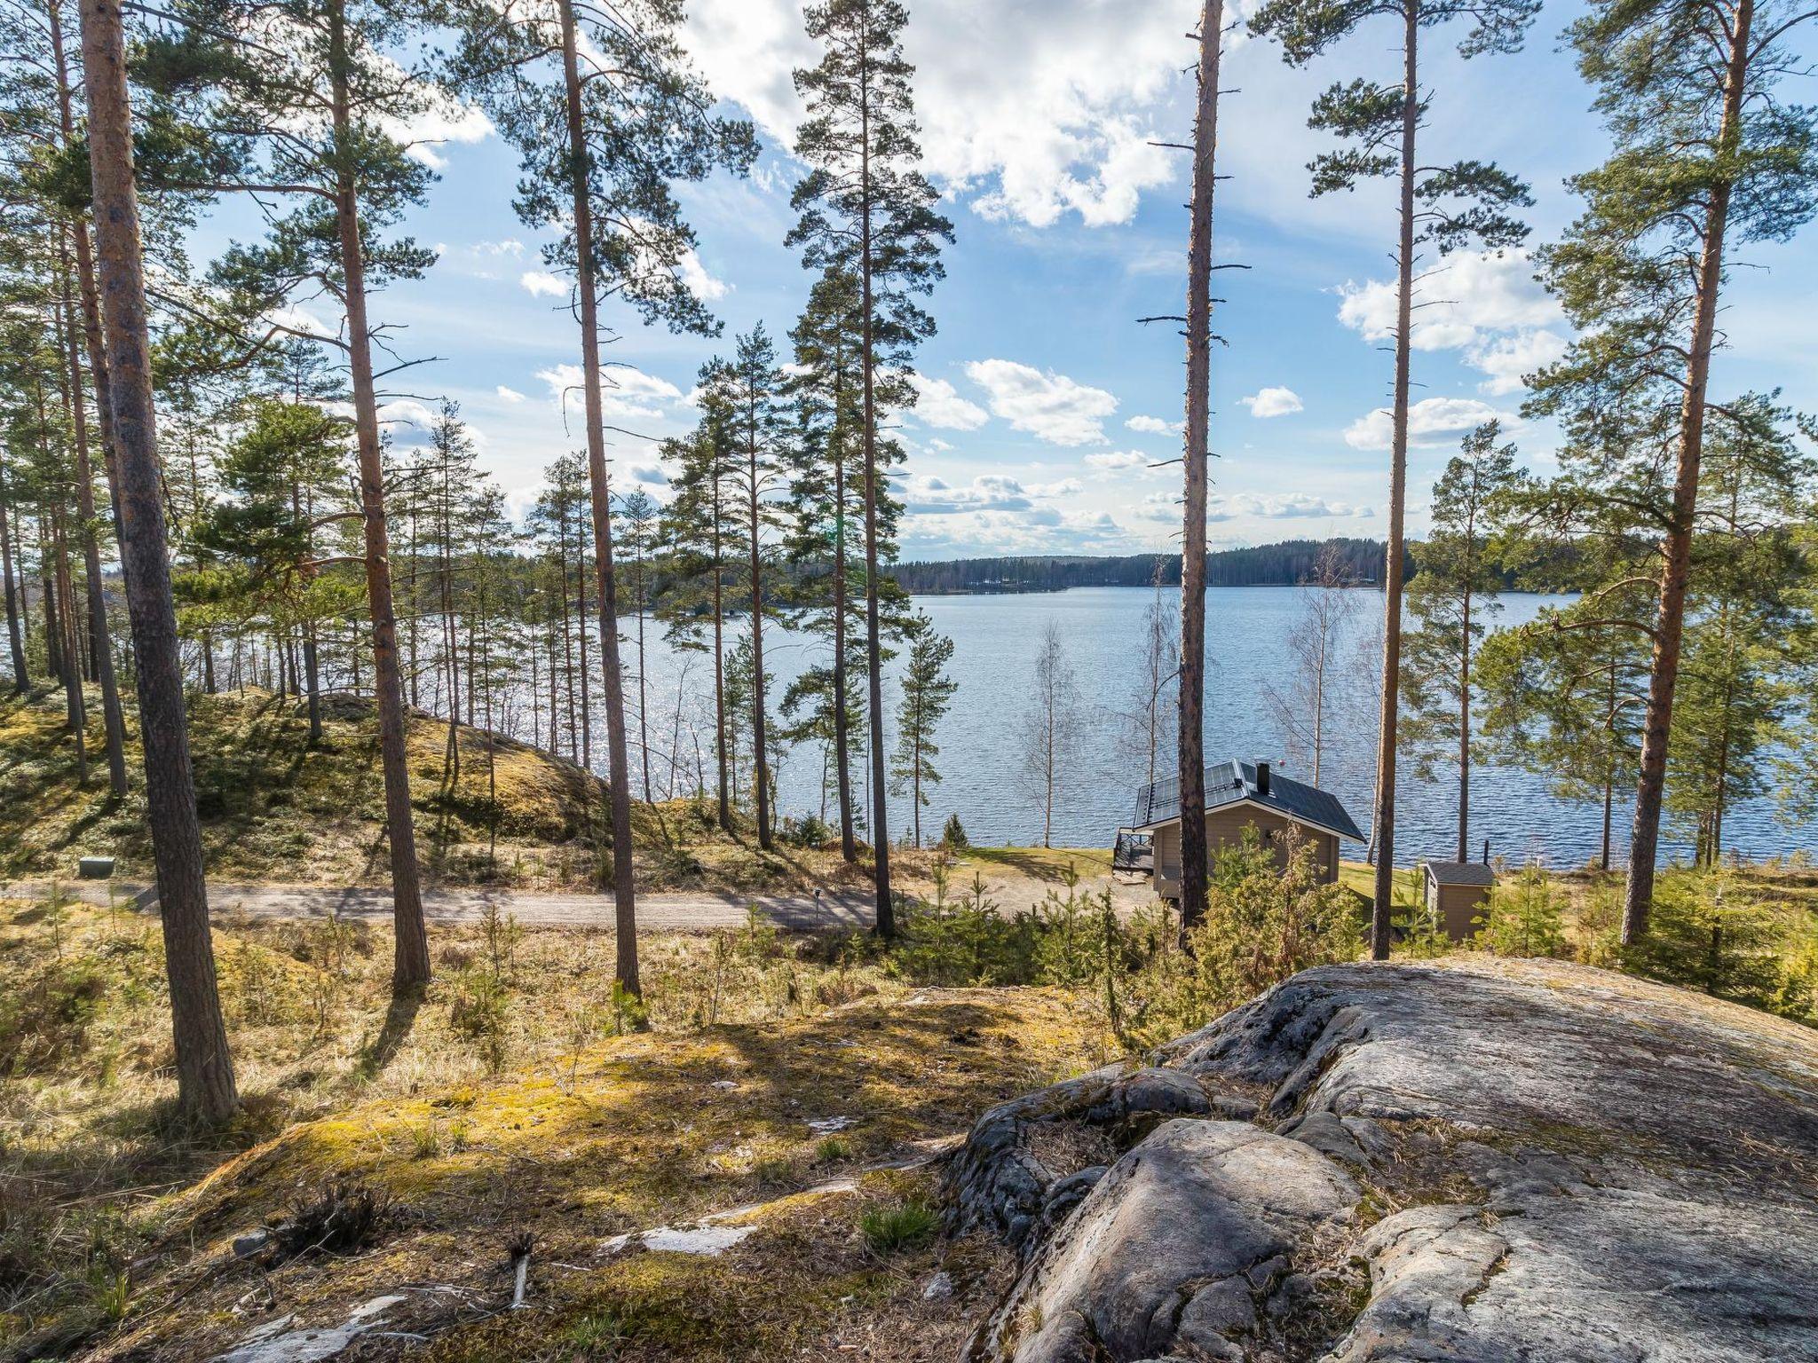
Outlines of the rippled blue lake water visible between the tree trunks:
<svg viewBox="0 0 1818 1363">
<path fill-rule="evenodd" d="M 1214 587 L 1205 598 L 1207 678 L 1205 678 L 1205 756 L 1273 758 L 1278 771 L 1309 780 L 1289 758 L 1289 743 L 1264 700 L 1265 685 L 1285 683 L 1284 640 L 1304 609 L 1302 587 Z M 933 805 L 924 811 L 922 832 L 933 838 L 947 814 L 956 812 L 967 834 L 978 843 L 1040 843 L 1042 798 L 1025 778 L 1020 720 L 1029 711 L 1034 656 L 1044 631 L 1053 622 L 1065 645 L 1078 683 L 1076 736 L 1065 761 L 1054 809 L 1054 845 L 1109 847 L 1116 829 L 1131 821 L 1136 791 L 1145 783 L 1145 758 L 1127 740 L 1129 716 L 1140 711 L 1134 696 L 1144 671 L 1142 616 L 1154 592 L 1136 587 L 1082 587 L 1065 592 L 1014 596 L 924 596 L 916 605 L 934 627 L 953 638 L 953 678 L 960 683 L 953 709 L 940 734 L 936 765 L 944 781 L 933 791 Z M 1505 594 L 1498 625 L 1533 620 L 1549 598 Z M 1353 643 L 1380 631 L 1382 596 L 1358 591 L 1351 612 Z M 629 622 L 627 622 L 629 623 Z M 729 636 L 742 631 L 729 625 Z M 627 631 L 629 632 L 629 631 Z M 731 647 L 731 640 L 727 643 Z M 1367 654 L 1365 654 L 1367 656 Z M 636 652 L 627 649 L 625 665 Z M 822 662 L 820 643 L 793 636 L 782 627 L 765 629 L 765 662 L 776 682 L 774 700 L 804 667 Z M 682 678 L 682 669 L 687 676 Z M 1338 694 L 1329 705 L 1329 732 L 1322 785 L 1351 811 L 1358 827 L 1369 831 L 1371 787 L 1374 780 L 1376 720 L 1373 682 L 1367 667 L 1340 667 L 1333 685 Z M 711 780 L 711 658 L 678 654 L 662 642 L 662 631 L 647 627 L 647 685 L 651 747 L 667 752 L 676 732 L 676 696 L 682 703 L 682 751 L 693 787 L 694 745 L 705 752 Z M 678 680 L 682 685 L 678 687 Z M 891 678 L 894 682 L 894 678 Z M 633 700 L 636 692 L 633 691 Z M 885 689 L 885 705 L 894 714 L 894 685 Z M 894 736 L 894 734 L 893 734 Z M 865 763 L 854 760 L 854 783 L 864 794 Z M 667 780 L 667 758 L 656 761 L 656 787 Z M 1173 774 L 1173 760 L 1162 761 L 1158 774 Z M 634 778 L 633 789 L 640 781 Z M 780 809 L 785 814 L 822 809 L 822 756 L 802 745 L 789 752 L 778 774 Z M 1438 771 L 1433 781 L 1418 780 L 1402 763 L 1396 791 L 1396 861 L 1413 863 L 1423 856 L 1449 858 L 1456 841 L 1456 776 Z M 1511 860 L 1545 856 L 1553 865 L 1578 865 L 1598 851 L 1602 811 L 1556 800 L 1540 776 L 1478 765 L 1471 789 L 1473 856 L 1483 840 L 1493 854 Z M 827 798 L 831 811 L 831 794 Z M 891 832 L 907 836 L 909 798 L 893 798 Z M 1627 803 L 1616 812 L 1616 854 L 1627 841 Z M 1774 814 L 1771 800 L 1738 805 L 1723 823 L 1725 843 L 1743 856 L 1765 858 L 1794 847 L 1818 851 L 1818 832 L 1811 827 L 1789 829 Z M 1689 856 L 1687 831 L 1669 829 L 1663 851 Z M 1345 856 L 1362 858 L 1362 845 L 1347 845 Z"/>
</svg>

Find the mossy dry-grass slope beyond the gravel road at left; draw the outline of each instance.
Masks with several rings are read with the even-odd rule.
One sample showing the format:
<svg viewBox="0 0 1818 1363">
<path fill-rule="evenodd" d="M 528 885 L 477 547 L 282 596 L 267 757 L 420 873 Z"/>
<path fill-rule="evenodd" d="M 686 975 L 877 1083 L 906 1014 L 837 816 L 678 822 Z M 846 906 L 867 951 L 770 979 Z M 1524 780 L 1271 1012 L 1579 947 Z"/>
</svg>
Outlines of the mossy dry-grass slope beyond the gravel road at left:
<svg viewBox="0 0 1818 1363">
<path fill-rule="evenodd" d="M 131 707 L 129 707 L 131 709 Z M 91 714 L 100 714 L 98 698 Z M 325 698 L 324 741 L 311 747 L 302 703 L 265 691 L 191 701 L 196 801 L 209 872 L 220 880 L 367 885 L 387 878 L 384 778 L 365 700 Z M 40 694 L 0 701 L 0 876 L 73 874 L 84 852 L 120 858 L 120 874 L 151 878 L 140 783 L 107 796 L 95 765 L 78 781 L 62 701 Z M 136 727 L 129 725 L 129 741 Z M 431 883 L 496 883 L 565 890 L 600 883 L 607 843 L 602 781 L 571 761 L 509 738 L 458 727 L 458 778 L 447 778 L 447 725 L 418 714 L 409 732 L 418 854 Z M 136 774 L 136 743 L 131 767 Z M 489 771 L 491 763 L 491 771 Z M 491 781 L 496 781 L 496 794 Z M 651 890 L 789 892 L 858 887 L 869 863 L 838 849 L 764 852 L 747 829 L 725 834 L 693 800 L 634 805 L 638 883 Z M 927 852 L 907 852 L 905 874 L 925 876 Z"/>
</svg>

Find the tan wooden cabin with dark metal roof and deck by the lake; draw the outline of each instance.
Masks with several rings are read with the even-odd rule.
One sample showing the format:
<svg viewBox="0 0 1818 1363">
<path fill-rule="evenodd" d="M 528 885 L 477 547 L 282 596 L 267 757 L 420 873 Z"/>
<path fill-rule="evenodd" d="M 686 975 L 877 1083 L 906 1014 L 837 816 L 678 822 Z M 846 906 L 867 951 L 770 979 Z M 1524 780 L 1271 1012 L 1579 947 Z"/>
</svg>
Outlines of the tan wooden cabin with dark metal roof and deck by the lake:
<svg viewBox="0 0 1818 1363">
<path fill-rule="evenodd" d="M 1205 851 L 1244 840 L 1244 829 L 1256 827 L 1264 845 L 1274 849 L 1276 863 L 1287 865 L 1289 831 L 1313 845 L 1320 880 L 1338 880 L 1338 841 L 1364 841 L 1356 821 L 1338 803 L 1338 796 L 1280 776 L 1267 761 L 1216 761 L 1205 769 Z M 1136 818 L 1120 829 L 1147 836 L 1153 849 L 1154 892 L 1162 900 L 1180 898 L 1180 778 L 1154 781 L 1136 794 Z"/>
</svg>

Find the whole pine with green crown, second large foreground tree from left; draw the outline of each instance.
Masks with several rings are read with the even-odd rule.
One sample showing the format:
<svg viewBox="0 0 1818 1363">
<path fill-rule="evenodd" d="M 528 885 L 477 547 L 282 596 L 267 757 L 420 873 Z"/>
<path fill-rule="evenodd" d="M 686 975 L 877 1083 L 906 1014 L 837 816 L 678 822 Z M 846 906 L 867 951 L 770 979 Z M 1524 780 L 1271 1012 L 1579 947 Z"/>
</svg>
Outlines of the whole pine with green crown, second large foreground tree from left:
<svg viewBox="0 0 1818 1363">
<path fill-rule="evenodd" d="M 233 294 L 245 318 L 271 318 L 285 303 L 316 294 L 327 294 L 345 318 L 338 336 L 276 322 L 269 331 L 333 345 L 347 363 L 391 845 L 393 989 L 402 994 L 429 980 L 429 940 L 391 582 L 378 327 L 369 305 L 375 291 L 418 278 L 435 260 L 416 242 L 387 242 L 384 233 L 422 202 L 433 180 L 395 129 L 427 111 L 449 113 L 451 100 L 424 71 L 391 56 L 427 24 L 405 0 L 293 0 L 276 13 L 247 0 L 184 0 L 165 11 L 165 24 L 145 44 L 147 82 L 173 100 L 187 100 L 193 122 L 216 131 L 215 178 L 184 187 L 255 193 L 295 205 L 269 214 L 265 240 L 235 245 L 216 262 L 216 285 Z M 282 25 L 282 45 L 260 42 L 271 25 Z M 244 40 L 222 42 L 225 33 Z"/>
</svg>

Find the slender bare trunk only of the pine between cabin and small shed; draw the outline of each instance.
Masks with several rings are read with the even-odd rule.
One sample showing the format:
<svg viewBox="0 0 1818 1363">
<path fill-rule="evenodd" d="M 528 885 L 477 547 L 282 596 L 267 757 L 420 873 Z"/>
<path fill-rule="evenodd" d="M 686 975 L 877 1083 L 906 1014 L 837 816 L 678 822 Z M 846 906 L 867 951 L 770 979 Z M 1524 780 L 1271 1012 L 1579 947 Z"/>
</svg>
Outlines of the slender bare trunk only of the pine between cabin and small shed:
<svg viewBox="0 0 1818 1363">
<path fill-rule="evenodd" d="M 1420 125 L 1416 56 L 1420 0 L 1405 0 L 1402 29 L 1402 240 L 1394 300 L 1394 434 L 1389 454 L 1389 545 L 1383 551 L 1382 709 L 1376 720 L 1376 801 L 1371 840 L 1376 843 L 1376 896 L 1369 954 L 1389 960 L 1389 914 L 1394 905 L 1394 743 L 1402 714 L 1402 558 L 1407 511 L 1407 389 L 1414 293 L 1414 131 Z"/>
</svg>

